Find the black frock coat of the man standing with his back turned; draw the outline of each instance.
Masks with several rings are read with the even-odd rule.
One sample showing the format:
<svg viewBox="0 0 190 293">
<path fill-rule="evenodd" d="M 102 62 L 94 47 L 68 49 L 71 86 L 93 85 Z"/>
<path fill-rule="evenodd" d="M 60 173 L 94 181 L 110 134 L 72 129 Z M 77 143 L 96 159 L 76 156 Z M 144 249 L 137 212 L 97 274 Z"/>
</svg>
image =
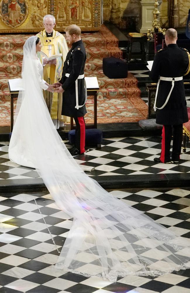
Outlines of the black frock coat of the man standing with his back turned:
<svg viewBox="0 0 190 293">
<path fill-rule="evenodd" d="M 150 78 L 158 82 L 159 76 L 180 77 L 189 68 L 189 57 L 186 49 L 177 44 L 169 44 L 154 57 Z M 162 107 L 172 87 L 171 81 L 160 80 L 157 103 Z M 156 109 L 156 123 L 162 125 L 179 125 L 189 121 L 187 115 L 185 90 L 183 80 L 175 81 L 171 96 L 162 110 Z"/>
</svg>

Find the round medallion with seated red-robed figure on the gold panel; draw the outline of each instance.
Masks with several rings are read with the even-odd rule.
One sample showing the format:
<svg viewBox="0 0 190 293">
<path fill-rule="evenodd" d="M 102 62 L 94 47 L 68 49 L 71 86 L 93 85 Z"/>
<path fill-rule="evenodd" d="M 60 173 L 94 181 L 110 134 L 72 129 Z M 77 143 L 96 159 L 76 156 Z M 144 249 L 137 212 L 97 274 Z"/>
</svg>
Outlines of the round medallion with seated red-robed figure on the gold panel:
<svg viewBox="0 0 190 293">
<path fill-rule="evenodd" d="M 28 4 L 25 0 L 1 0 L 0 14 L 3 23 L 16 28 L 25 22 L 28 16 Z"/>
</svg>

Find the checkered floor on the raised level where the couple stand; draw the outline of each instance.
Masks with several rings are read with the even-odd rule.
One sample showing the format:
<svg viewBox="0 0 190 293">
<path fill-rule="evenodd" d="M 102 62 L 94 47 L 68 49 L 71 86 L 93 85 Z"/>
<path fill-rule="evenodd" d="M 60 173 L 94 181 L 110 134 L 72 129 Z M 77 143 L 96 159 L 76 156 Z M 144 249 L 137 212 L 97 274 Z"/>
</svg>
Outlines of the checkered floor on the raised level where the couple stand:
<svg viewBox="0 0 190 293">
<path fill-rule="evenodd" d="M 6 143 L 5 143 L 6 144 Z M 69 142 L 65 142 L 68 144 Z M 190 148 L 181 154 L 180 164 L 155 163 L 159 157 L 161 137 L 120 137 L 103 139 L 100 150 L 90 149 L 75 156 L 77 163 L 93 166 L 89 176 L 143 175 L 162 173 L 190 173 Z M 9 161 L 8 145 L 0 144 L 0 179 L 38 178 L 37 171 Z"/>
</svg>

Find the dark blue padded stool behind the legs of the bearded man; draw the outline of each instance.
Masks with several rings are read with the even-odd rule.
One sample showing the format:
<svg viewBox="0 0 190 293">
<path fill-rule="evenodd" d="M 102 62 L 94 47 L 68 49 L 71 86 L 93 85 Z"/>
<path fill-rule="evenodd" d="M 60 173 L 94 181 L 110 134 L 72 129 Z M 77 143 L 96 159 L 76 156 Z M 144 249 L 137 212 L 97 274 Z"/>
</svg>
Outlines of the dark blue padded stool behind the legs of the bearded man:
<svg viewBox="0 0 190 293">
<path fill-rule="evenodd" d="M 101 149 L 101 143 L 103 139 L 102 131 L 96 128 L 86 129 L 85 144 L 87 146 L 96 145 L 98 149 Z M 70 130 L 68 133 L 68 139 L 71 144 L 75 144 L 75 130 Z"/>
</svg>

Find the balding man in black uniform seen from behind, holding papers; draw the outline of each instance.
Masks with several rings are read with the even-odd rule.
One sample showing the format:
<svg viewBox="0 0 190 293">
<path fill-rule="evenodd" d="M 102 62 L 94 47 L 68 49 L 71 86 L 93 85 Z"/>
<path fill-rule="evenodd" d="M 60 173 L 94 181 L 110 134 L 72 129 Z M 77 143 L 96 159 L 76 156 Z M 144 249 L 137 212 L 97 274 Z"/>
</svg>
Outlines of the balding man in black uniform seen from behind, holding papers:
<svg viewBox="0 0 190 293">
<path fill-rule="evenodd" d="M 189 121 L 186 107 L 183 75 L 189 74 L 189 52 L 178 47 L 177 31 L 170 28 L 165 33 L 167 48 L 160 50 L 154 58 L 150 78 L 158 82 L 154 109 L 156 123 L 163 125 L 162 150 L 158 163 L 178 163 L 180 159 L 183 123 Z M 172 158 L 170 145 L 173 127 Z"/>
</svg>

